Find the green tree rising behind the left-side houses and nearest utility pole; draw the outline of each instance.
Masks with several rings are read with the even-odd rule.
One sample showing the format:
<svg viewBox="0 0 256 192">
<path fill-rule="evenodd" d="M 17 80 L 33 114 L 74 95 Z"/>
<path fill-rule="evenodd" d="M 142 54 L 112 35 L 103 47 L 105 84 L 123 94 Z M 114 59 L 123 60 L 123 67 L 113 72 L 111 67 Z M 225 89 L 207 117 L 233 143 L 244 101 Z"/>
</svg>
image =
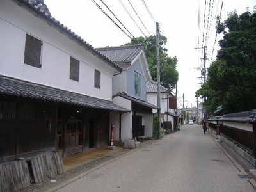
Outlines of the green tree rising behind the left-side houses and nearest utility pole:
<svg viewBox="0 0 256 192">
<path fill-rule="evenodd" d="M 175 88 L 179 73 L 176 70 L 177 58 L 169 57 L 167 54 L 167 49 L 163 46 L 166 45 L 167 38 L 163 35 L 159 37 L 160 45 L 160 80 L 161 85 L 170 90 Z M 148 68 L 150 69 L 152 80 L 157 81 L 157 60 L 156 60 L 156 36 L 148 36 L 146 38 L 140 36 L 138 38 L 132 38 L 130 43 L 125 45 L 141 45 L 144 49 L 145 55 L 147 57 Z"/>
</svg>

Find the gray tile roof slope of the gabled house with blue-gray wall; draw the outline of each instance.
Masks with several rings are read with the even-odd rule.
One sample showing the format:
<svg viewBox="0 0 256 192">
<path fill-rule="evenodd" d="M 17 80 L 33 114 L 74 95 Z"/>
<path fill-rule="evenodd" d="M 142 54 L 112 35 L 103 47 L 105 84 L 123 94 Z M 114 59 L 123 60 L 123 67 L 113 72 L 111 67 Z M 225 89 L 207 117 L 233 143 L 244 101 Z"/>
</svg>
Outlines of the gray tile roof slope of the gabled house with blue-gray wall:
<svg viewBox="0 0 256 192">
<path fill-rule="evenodd" d="M 131 63 L 143 50 L 140 45 L 126 45 L 120 47 L 97 48 L 99 52 L 115 63 Z"/>
</svg>

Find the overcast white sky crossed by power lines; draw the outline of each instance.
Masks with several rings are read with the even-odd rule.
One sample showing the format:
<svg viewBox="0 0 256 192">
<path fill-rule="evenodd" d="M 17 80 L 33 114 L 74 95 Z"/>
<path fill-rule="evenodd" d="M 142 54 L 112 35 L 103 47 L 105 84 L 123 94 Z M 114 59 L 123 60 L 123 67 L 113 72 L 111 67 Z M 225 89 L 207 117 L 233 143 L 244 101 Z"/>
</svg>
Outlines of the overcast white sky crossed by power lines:
<svg viewBox="0 0 256 192">
<path fill-rule="evenodd" d="M 205 0 L 144 0 L 154 20 L 147 12 L 143 1 L 129 0 L 147 29 L 141 24 L 128 0 L 102 1 L 135 37 L 144 36 L 144 34 L 146 36 L 155 35 L 156 24 L 154 20 L 159 22 L 161 34 L 168 39 L 165 46 L 168 49 L 168 56 L 176 56 L 178 60 L 179 82 L 177 87 L 180 100 L 178 104 L 182 106 L 182 95 L 184 94 L 185 104 L 189 103 L 189 107 L 191 104 L 196 106 L 195 92 L 200 88 L 198 83 L 203 80 L 198 78 L 200 77 L 200 70 L 194 69 L 202 67 L 202 60 L 200 60 L 202 58 L 202 49 L 195 49 L 195 47 L 202 47 L 203 31 L 205 29 L 204 37 L 208 36 L 206 53 L 207 58 L 209 58 L 206 66 L 209 67 L 211 58 L 215 59 L 216 50 L 219 49 L 218 40 L 221 38 L 220 35 L 218 35 L 212 56 L 216 35 L 214 15 L 216 13 L 217 15 L 220 14 L 222 0 L 206 0 L 206 20 L 204 20 Z M 115 17 L 100 0 L 95 0 L 95 2 L 116 21 Z M 253 12 L 253 6 L 256 5 L 255 0 L 224 0 L 223 2 L 223 20 L 227 19 L 228 12 L 236 9 L 241 14 L 246 11 L 246 7 Z M 122 3 L 136 23 L 125 11 Z M 49 8 L 52 17 L 59 20 L 64 26 L 67 26 L 68 29 L 81 36 L 95 48 L 124 45 L 131 40 L 97 8 L 92 0 L 44 0 L 44 4 Z M 210 12 L 209 4 L 211 7 Z M 120 23 L 118 25 L 122 27 Z"/>
</svg>

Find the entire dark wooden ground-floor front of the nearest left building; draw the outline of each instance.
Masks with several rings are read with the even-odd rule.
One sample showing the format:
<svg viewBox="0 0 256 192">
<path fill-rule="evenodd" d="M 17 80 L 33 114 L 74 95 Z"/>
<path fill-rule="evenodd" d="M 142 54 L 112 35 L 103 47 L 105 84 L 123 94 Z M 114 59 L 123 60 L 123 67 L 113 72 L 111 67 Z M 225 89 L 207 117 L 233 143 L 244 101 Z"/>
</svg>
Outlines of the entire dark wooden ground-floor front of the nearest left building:
<svg viewBox="0 0 256 192">
<path fill-rule="evenodd" d="M 79 122 L 80 131 L 75 132 L 79 134 L 79 143 L 72 147 L 65 142 L 68 123 L 74 118 Z M 61 138 L 56 130 L 60 121 Z M 93 138 L 88 134 L 91 121 Z M 109 144 L 109 111 L 0 96 L 0 163 L 53 150 L 60 151 L 63 156 L 84 152 L 89 149 L 89 140 L 93 140 L 94 148 Z"/>
</svg>

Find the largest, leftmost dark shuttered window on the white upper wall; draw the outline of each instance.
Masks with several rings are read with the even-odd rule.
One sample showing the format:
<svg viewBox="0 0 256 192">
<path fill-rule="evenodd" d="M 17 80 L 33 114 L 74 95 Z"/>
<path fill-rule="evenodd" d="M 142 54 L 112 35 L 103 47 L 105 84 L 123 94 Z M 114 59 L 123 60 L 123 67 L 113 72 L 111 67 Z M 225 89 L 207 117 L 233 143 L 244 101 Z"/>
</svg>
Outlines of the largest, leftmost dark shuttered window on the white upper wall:
<svg viewBox="0 0 256 192">
<path fill-rule="evenodd" d="M 24 63 L 33 67 L 41 67 L 41 52 L 43 42 L 26 34 Z"/>
</svg>

